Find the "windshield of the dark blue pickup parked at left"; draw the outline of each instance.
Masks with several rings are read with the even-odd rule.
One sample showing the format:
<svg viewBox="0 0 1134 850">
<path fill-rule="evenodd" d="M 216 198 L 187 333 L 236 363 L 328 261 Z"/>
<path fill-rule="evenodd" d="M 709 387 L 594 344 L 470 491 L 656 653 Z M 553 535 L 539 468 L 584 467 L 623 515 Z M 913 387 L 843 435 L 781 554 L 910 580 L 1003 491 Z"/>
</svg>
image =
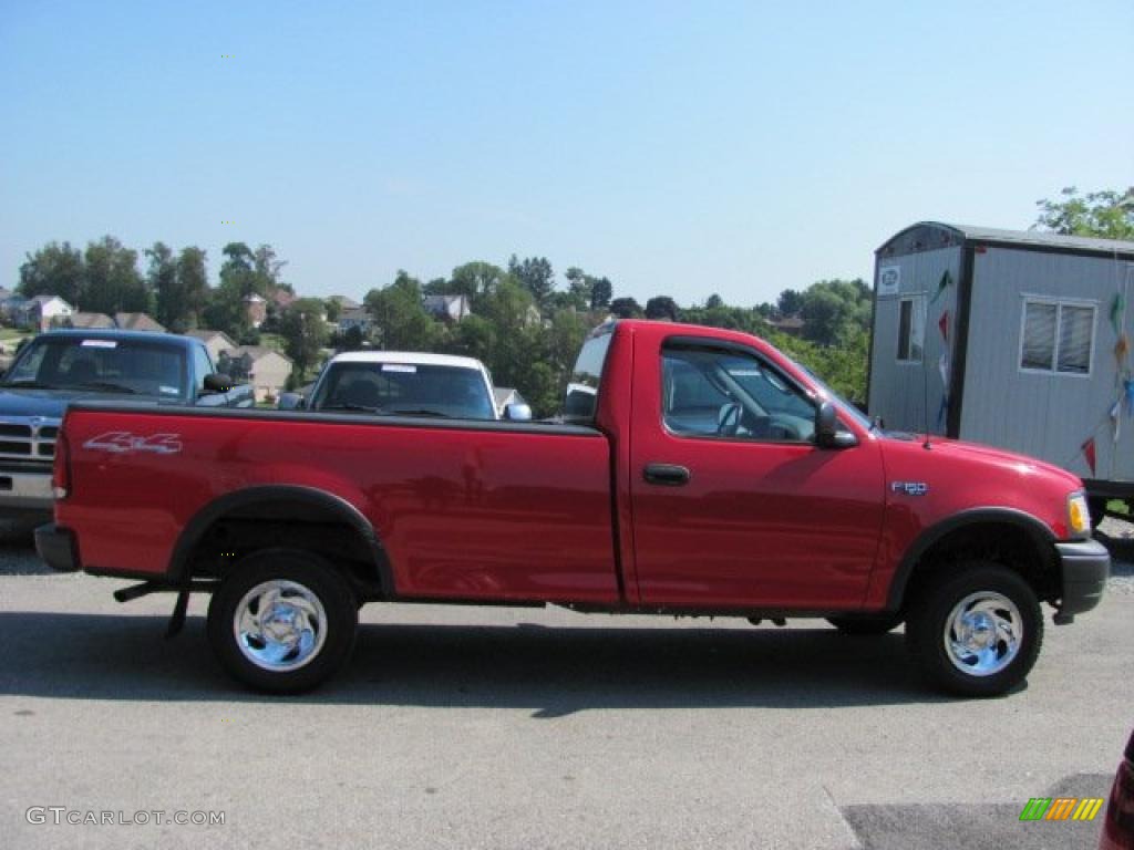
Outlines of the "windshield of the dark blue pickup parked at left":
<svg viewBox="0 0 1134 850">
<path fill-rule="evenodd" d="M 185 352 L 145 340 L 37 337 L 3 385 L 179 398 L 186 394 Z"/>
</svg>

